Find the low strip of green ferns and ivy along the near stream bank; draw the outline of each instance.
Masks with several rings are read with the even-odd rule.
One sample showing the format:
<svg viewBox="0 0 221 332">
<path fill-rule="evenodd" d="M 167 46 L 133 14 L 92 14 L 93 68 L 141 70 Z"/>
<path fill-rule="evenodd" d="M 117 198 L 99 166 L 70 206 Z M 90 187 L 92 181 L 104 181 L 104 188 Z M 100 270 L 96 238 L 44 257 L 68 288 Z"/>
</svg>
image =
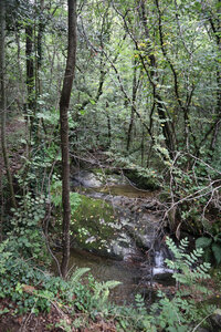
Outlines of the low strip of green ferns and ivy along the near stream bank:
<svg viewBox="0 0 221 332">
<path fill-rule="evenodd" d="M 209 291 L 201 282 L 210 278 L 210 264 L 199 262 L 202 249 L 187 253 L 187 239 L 181 240 L 179 247 L 167 239 L 175 257 L 172 261 L 167 260 L 167 264 L 173 270 L 178 289 L 173 295 L 158 291 L 159 301 L 151 305 L 150 311 L 140 294 L 135 298 L 135 307 L 110 303 L 109 291 L 119 284 L 117 281 L 99 283 L 88 276 L 82 283 L 82 277 L 90 270 L 87 268 L 76 269 L 65 281 L 50 276 L 41 267 L 35 268 L 31 260 L 14 257 L 11 251 L 13 248 L 7 245 L 1 245 L 0 297 L 7 297 L 18 304 L 14 312 L 31 311 L 38 314 L 40 311 L 50 311 L 52 305 L 61 308 L 70 317 L 69 322 L 60 322 L 60 326 L 66 331 L 73 326 L 86 326 L 90 320 L 96 321 L 97 317 L 107 322 L 114 318 L 119 331 L 190 331 L 190 328 L 215 312 L 214 307 L 197 304 L 190 297 L 199 293 L 201 299 L 208 297 Z"/>
</svg>

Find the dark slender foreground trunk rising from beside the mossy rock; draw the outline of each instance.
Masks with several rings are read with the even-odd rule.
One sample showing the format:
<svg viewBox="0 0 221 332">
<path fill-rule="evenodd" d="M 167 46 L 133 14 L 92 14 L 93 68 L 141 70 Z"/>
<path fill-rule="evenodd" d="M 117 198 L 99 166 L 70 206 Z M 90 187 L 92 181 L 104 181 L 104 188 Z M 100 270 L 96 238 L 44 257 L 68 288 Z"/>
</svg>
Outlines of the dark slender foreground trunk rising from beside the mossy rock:
<svg viewBox="0 0 221 332">
<path fill-rule="evenodd" d="M 76 61 L 76 0 L 67 0 L 69 6 L 69 46 L 66 70 L 60 100 L 61 149 L 62 149 L 62 206 L 63 206 L 63 256 L 62 277 L 67 276 L 70 259 L 70 151 L 69 151 L 69 105 Z"/>
</svg>

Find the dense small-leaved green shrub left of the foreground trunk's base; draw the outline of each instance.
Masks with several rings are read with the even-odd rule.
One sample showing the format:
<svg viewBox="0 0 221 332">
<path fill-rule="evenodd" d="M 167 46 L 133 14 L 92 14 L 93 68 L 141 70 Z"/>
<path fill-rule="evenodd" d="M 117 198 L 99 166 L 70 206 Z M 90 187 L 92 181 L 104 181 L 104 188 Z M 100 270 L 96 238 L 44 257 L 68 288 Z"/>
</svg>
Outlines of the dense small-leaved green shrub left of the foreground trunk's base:
<svg viewBox="0 0 221 332">
<path fill-rule="evenodd" d="M 42 234 L 45 216 L 45 197 L 32 198 L 28 194 L 19 201 L 19 208 L 13 209 L 8 239 L 1 243 L 1 286 L 0 297 L 9 297 L 20 303 L 20 310 L 35 307 L 36 299 L 23 292 L 21 284 L 38 284 L 44 279 L 44 270 L 50 262 Z M 43 264 L 40 272 L 34 266 Z M 45 301 L 38 302 L 36 308 L 45 308 Z"/>
</svg>

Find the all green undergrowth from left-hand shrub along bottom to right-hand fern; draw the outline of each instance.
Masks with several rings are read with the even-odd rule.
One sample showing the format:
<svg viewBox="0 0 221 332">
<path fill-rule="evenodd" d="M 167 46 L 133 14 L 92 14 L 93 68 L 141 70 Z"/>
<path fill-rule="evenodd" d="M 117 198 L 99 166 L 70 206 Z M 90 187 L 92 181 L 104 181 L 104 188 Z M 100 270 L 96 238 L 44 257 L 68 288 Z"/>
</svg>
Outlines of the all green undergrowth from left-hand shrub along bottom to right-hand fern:
<svg viewBox="0 0 221 332">
<path fill-rule="evenodd" d="M 97 282 L 87 268 L 77 269 L 67 281 L 51 276 L 41 229 L 45 201 L 44 197 L 27 196 L 14 211 L 11 230 L 0 245 L 0 298 L 15 304 L 14 314 L 31 312 L 38 315 L 54 307 L 69 315 L 69 321 L 59 323 L 64 331 L 85 328 L 90 321 L 102 319 L 114 323 L 119 332 L 185 332 L 197 331 L 206 318 L 217 312 L 214 305 L 203 303 L 210 295 L 207 288 L 210 264 L 202 262 L 201 248 L 188 253 L 187 239 L 178 247 L 167 239 L 175 259 L 166 262 L 173 270 L 177 289 L 175 294 L 158 291 L 158 300 L 148 309 L 140 294 L 136 295 L 134 307 L 112 303 L 109 291 L 119 282 Z M 194 294 L 200 294 L 199 303 L 196 303 Z M 7 310 L 4 308 L 0 314 Z"/>
</svg>

